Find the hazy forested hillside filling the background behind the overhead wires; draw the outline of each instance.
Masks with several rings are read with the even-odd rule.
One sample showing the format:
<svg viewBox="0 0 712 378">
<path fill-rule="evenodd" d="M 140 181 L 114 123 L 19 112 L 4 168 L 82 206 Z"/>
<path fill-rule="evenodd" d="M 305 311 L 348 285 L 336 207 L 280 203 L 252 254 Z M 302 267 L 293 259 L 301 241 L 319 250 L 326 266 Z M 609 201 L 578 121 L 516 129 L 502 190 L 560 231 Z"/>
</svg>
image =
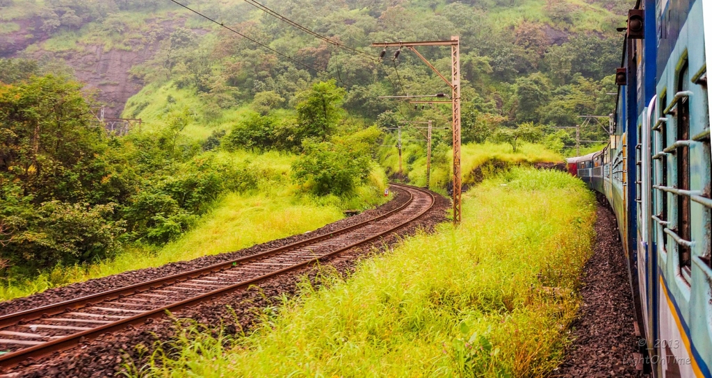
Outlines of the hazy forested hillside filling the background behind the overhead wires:
<svg viewBox="0 0 712 378">
<path fill-rule="evenodd" d="M 623 0 L 261 2 L 375 55 L 380 51 L 369 47 L 375 41 L 459 35 L 466 80 L 464 137 L 473 141 L 493 124 L 567 126 L 580 114 L 607 114 L 612 101 L 605 93 L 612 88 L 604 87 L 612 80 L 606 76 L 619 60 L 614 28 L 624 24 L 621 15 L 631 5 Z M 159 118 L 179 100 L 200 120 L 219 125 L 244 105 L 290 107 L 295 94 L 317 78 L 337 80 L 347 90 L 344 108 L 367 120 L 387 110 L 443 122 L 449 115 L 444 109 L 416 112 L 377 99 L 446 90 L 411 53 L 392 61 L 390 51 L 384 61 L 372 61 L 298 31 L 246 1 L 184 4 L 294 61 L 169 0 L 0 0 L 0 57 L 36 58 L 46 72 L 73 73 L 100 90 L 98 99 L 112 115 L 145 120 Z M 423 52 L 449 71 L 449 51 Z"/>
</svg>

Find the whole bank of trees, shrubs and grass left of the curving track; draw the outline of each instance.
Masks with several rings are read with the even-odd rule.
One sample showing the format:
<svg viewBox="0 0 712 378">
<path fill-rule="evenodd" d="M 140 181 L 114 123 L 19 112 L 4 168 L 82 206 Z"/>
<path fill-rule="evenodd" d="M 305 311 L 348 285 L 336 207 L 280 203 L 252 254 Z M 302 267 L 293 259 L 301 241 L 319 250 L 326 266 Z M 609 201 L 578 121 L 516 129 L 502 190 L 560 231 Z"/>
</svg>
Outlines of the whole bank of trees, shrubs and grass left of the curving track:
<svg viewBox="0 0 712 378">
<path fill-rule="evenodd" d="M 186 107 L 146 130 L 109 136 L 78 83 L 38 73 L 31 62 L 0 61 L 2 298 L 231 251 L 384 201 L 384 173 L 371 159 L 381 132 L 342 125 L 342 92 L 332 82 L 301 94 L 300 132 L 281 151 L 260 154 L 246 150 L 253 136 L 241 139 L 241 124 L 225 145 L 221 135 L 189 137 L 195 120 Z M 336 97 L 327 106 L 310 104 L 328 93 Z M 320 115 L 325 108 L 334 115 Z M 327 162 L 334 167 L 323 169 Z M 263 206 L 251 214 L 255 203 Z M 221 219 L 231 214 L 226 206 L 244 210 L 244 219 Z M 181 238 L 191 229 L 214 233 L 219 220 L 241 227 L 244 238 Z M 271 232 L 258 232 L 267 225 Z"/>
</svg>

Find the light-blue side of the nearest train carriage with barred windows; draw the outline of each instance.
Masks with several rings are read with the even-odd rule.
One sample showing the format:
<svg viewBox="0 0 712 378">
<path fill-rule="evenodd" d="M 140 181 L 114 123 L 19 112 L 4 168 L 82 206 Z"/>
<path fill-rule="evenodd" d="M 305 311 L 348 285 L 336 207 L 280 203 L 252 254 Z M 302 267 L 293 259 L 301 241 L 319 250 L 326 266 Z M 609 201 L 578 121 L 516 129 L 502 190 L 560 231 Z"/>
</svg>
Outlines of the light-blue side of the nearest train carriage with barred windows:
<svg viewBox="0 0 712 378">
<path fill-rule="evenodd" d="M 711 377 L 709 104 L 703 1 L 661 1 L 651 233 L 658 271 L 659 377 Z M 703 80 L 701 80 L 703 79 Z M 659 135 L 658 135 L 659 134 Z"/>
</svg>

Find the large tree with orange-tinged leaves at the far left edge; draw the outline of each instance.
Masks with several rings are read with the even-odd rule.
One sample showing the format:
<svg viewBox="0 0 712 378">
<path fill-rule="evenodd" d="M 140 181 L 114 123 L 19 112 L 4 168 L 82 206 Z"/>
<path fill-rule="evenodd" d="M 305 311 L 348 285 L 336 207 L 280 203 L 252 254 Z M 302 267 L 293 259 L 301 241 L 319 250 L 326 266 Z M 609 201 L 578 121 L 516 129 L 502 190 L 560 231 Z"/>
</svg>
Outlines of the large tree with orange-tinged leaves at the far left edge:
<svg viewBox="0 0 712 378">
<path fill-rule="evenodd" d="M 105 137 L 81 88 L 52 75 L 0 87 L 0 174 L 36 203 L 78 198 L 100 169 L 93 161 Z"/>
</svg>

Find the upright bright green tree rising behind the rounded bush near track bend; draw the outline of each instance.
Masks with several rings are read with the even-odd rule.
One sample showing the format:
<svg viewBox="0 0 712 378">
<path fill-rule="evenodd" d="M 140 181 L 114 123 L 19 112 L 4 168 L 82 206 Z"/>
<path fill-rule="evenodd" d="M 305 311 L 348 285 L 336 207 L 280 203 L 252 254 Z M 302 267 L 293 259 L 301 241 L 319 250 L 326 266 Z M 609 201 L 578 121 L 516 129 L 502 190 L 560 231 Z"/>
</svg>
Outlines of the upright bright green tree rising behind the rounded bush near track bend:
<svg viewBox="0 0 712 378">
<path fill-rule="evenodd" d="M 340 105 L 345 94 L 335 80 L 315 83 L 310 90 L 300 93 L 296 106 L 299 139 L 316 137 L 325 141 L 341 119 Z"/>
</svg>

